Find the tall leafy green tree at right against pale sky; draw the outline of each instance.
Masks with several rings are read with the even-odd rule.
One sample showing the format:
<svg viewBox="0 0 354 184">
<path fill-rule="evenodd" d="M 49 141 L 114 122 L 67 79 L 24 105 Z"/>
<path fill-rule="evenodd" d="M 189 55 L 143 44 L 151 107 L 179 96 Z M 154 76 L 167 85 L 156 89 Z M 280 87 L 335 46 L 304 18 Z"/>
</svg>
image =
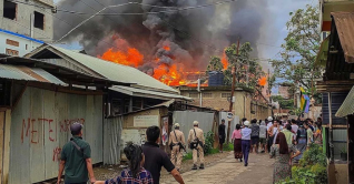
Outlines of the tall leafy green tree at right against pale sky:
<svg viewBox="0 0 354 184">
<path fill-rule="evenodd" d="M 274 74 L 278 80 L 289 82 L 293 90 L 302 85 L 316 96 L 314 79 L 321 78 L 322 71 L 314 67 L 321 40 L 318 8 L 306 6 L 306 9 L 289 14 L 288 34 L 279 52 L 282 59 L 271 61 Z"/>
</svg>

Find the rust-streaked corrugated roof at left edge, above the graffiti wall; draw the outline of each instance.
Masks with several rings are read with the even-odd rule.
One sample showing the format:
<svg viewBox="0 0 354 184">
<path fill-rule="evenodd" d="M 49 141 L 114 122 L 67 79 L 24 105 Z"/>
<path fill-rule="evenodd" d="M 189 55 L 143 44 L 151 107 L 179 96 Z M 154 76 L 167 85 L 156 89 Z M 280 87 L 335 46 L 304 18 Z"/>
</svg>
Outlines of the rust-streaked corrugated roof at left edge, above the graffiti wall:
<svg viewBox="0 0 354 184">
<path fill-rule="evenodd" d="M 67 85 L 65 82 L 60 81 L 58 78 L 51 75 L 42 69 L 31 69 L 22 65 L 0 64 L 0 78 Z"/>
</svg>

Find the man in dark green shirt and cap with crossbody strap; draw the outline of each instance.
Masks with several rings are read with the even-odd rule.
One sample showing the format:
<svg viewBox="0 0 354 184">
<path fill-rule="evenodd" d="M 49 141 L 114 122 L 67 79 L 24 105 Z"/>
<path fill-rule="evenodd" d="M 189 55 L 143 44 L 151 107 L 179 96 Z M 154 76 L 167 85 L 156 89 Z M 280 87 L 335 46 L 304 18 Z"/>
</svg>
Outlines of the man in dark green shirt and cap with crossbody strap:
<svg viewBox="0 0 354 184">
<path fill-rule="evenodd" d="M 65 183 L 86 184 L 96 182 L 92 170 L 91 147 L 82 140 L 82 125 L 73 123 L 70 125 L 72 137 L 62 146 L 59 164 L 58 184 L 65 171 Z"/>
</svg>

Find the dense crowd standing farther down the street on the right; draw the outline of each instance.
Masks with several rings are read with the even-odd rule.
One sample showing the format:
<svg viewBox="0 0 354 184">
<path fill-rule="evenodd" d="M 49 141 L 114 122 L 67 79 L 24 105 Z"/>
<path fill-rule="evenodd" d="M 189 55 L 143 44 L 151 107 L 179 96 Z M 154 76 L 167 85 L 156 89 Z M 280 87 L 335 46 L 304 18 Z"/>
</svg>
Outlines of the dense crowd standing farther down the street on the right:
<svg viewBox="0 0 354 184">
<path fill-rule="evenodd" d="M 219 134 L 223 132 L 219 125 Z M 222 133 L 224 134 L 224 133 Z M 222 139 L 222 136 L 220 136 Z M 232 134 L 234 156 L 248 165 L 249 153 L 269 153 L 275 159 L 273 182 L 291 177 L 291 165 L 298 162 L 312 143 L 322 144 L 322 119 L 282 120 L 269 116 L 266 120 L 243 119 Z M 219 140 L 224 144 L 224 140 Z M 244 160 L 243 160 L 244 159 Z"/>
</svg>

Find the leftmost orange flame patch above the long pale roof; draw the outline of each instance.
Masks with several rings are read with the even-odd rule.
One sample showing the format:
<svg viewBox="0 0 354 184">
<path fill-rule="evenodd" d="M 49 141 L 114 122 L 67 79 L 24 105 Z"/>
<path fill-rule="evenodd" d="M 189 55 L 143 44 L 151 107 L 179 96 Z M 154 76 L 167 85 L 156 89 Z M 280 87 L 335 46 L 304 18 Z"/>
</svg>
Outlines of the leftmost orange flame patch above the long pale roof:
<svg viewBox="0 0 354 184">
<path fill-rule="evenodd" d="M 127 53 L 121 51 L 115 52 L 112 49 L 109 49 L 100 58 L 107 61 L 135 68 L 141 65 L 144 60 L 144 55 L 135 48 L 128 48 Z"/>
</svg>

